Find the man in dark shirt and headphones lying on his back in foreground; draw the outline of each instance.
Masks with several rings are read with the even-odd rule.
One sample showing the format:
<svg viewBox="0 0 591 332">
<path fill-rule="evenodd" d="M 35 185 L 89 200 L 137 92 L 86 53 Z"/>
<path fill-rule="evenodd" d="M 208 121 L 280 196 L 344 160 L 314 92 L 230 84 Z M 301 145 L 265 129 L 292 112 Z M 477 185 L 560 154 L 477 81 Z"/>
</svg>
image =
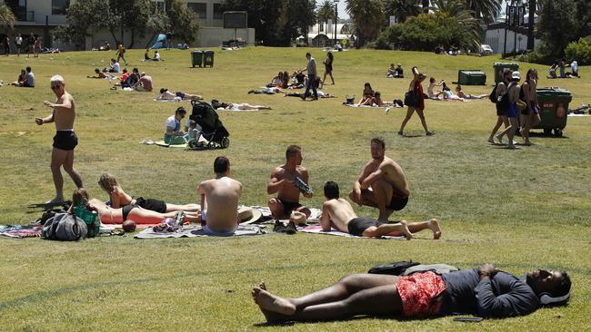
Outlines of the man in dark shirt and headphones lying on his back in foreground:
<svg viewBox="0 0 591 332">
<path fill-rule="evenodd" d="M 570 286 L 566 272 L 535 269 L 516 278 L 485 264 L 441 276 L 432 271 L 402 277 L 354 274 L 302 298 L 279 298 L 261 283 L 252 295 L 270 323 L 341 320 L 357 315 L 437 317 L 464 313 L 502 318 L 566 304 Z"/>
</svg>

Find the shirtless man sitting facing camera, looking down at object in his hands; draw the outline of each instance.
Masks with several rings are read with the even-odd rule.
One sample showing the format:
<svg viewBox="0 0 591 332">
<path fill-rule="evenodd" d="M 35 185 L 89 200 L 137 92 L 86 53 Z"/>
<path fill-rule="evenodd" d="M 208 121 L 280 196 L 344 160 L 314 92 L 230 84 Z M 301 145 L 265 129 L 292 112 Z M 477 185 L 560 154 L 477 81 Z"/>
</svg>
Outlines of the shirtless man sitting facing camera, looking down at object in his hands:
<svg viewBox="0 0 591 332">
<path fill-rule="evenodd" d="M 277 166 L 271 173 L 271 179 L 266 185 L 268 194 L 277 193 L 277 197 L 268 201 L 269 209 L 275 219 L 288 219 L 292 211 L 301 212 L 310 217 L 310 210 L 299 203 L 300 190 L 295 187 L 295 178 L 308 183 L 308 170 L 302 164 L 302 149 L 297 145 L 290 145 L 285 151 L 285 164 Z M 311 198 L 313 193 L 306 192 L 304 197 Z M 302 220 L 300 223 L 305 223 Z"/>
</svg>

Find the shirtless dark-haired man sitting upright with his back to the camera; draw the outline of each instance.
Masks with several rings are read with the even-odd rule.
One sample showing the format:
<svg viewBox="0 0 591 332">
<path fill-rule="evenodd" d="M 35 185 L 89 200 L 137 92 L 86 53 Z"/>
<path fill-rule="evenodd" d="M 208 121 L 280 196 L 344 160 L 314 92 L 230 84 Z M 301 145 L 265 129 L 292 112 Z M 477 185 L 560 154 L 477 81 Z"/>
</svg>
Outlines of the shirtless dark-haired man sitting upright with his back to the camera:
<svg viewBox="0 0 591 332">
<path fill-rule="evenodd" d="M 201 225 L 207 235 L 230 236 L 238 228 L 238 200 L 242 183 L 230 179 L 230 161 L 219 156 L 214 161 L 215 179 L 199 183 Z"/>
</svg>

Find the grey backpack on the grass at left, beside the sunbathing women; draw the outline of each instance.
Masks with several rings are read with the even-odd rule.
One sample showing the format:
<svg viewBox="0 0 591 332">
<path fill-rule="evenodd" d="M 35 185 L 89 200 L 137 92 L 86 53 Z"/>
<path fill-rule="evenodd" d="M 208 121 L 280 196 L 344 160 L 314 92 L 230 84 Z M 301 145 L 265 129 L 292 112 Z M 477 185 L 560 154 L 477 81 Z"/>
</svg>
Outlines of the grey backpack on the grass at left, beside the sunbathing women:
<svg viewBox="0 0 591 332">
<path fill-rule="evenodd" d="M 84 220 L 74 214 L 55 213 L 55 216 L 45 221 L 41 236 L 44 239 L 60 241 L 77 241 L 85 239 L 88 229 Z"/>
</svg>

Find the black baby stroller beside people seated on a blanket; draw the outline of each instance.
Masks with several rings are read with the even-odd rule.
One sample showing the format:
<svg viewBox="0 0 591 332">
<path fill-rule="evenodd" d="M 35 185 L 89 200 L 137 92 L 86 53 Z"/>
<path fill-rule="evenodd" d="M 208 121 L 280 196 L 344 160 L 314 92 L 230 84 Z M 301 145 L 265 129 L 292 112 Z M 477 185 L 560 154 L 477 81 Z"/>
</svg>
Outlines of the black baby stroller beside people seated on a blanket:
<svg viewBox="0 0 591 332">
<path fill-rule="evenodd" d="M 219 120 L 217 112 L 210 103 L 203 101 L 193 100 L 193 112 L 189 116 L 189 120 L 195 121 L 201 126 L 201 132 L 199 132 L 195 139 L 187 142 L 189 148 L 193 150 L 204 150 L 204 149 L 225 149 L 230 146 L 230 133 L 225 129 L 222 122 Z M 199 142 L 199 139 L 203 137 L 208 142 Z"/>
</svg>

